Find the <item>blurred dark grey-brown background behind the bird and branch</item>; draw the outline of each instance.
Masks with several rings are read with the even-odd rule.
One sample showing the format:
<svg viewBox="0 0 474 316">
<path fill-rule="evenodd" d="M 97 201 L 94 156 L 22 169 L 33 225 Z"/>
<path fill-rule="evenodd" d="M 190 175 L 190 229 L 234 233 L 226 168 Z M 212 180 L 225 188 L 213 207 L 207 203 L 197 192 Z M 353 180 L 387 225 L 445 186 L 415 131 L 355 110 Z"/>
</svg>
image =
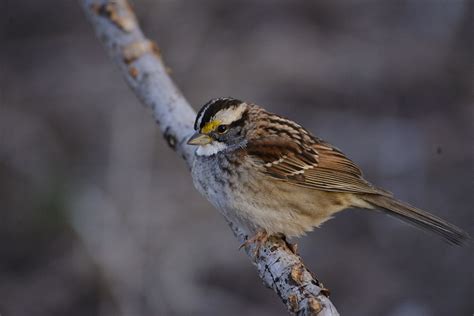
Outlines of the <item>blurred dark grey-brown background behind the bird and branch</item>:
<svg viewBox="0 0 474 316">
<path fill-rule="evenodd" d="M 195 109 L 297 120 L 473 235 L 473 1 L 133 4 Z M 0 10 L 0 314 L 286 315 L 78 3 Z M 474 312 L 472 246 L 361 210 L 299 246 L 342 315 Z"/>
</svg>

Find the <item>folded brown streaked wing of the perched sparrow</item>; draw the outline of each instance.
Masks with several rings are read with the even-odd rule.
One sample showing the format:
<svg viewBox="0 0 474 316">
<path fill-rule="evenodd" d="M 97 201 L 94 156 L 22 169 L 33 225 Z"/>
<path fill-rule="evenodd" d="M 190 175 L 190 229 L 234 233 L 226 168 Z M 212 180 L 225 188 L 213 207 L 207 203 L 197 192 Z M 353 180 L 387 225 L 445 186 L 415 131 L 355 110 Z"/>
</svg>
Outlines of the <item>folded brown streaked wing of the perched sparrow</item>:
<svg viewBox="0 0 474 316">
<path fill-rule="evenodd" d="M 247 151 L 262 160 L 265 174 L 291 184 L 331 192 L 392 195 L 371 185 L 354 162 L 316 138 L 304 146 L 289 137 L 269 136 L 253 140 Z"/>
</svg>

